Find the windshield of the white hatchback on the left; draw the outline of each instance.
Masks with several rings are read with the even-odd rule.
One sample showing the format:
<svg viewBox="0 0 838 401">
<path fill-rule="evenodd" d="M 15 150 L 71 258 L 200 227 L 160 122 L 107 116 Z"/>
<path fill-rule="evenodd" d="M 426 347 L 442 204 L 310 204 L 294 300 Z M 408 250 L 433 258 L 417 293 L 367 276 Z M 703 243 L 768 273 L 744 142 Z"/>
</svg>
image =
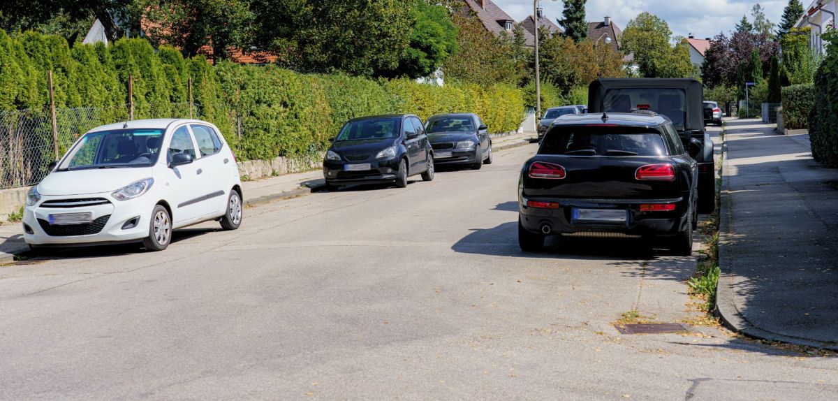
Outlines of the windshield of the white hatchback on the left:
<svg viewBox="0 0 838 401">
<path fill-rule="evenodd" d="M 162 129 L 120 129 L 85 133 L 70 149 L 59 171 L 74 169 L 108 169 L 148 167 L 157 163 Z"/>
</svg>

